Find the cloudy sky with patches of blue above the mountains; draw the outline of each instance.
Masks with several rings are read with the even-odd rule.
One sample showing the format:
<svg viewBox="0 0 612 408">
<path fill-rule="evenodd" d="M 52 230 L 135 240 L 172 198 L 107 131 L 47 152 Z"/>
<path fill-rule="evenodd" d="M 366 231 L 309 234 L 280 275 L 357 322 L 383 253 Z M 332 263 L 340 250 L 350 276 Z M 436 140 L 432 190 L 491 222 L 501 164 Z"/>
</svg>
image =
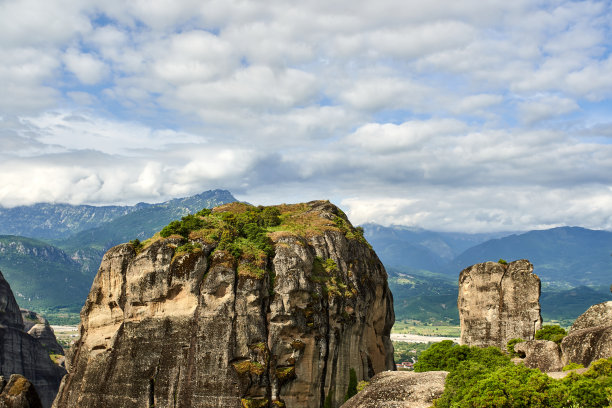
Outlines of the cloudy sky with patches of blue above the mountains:
<svg viewBox="0 0 612 408">
<path fill-rule="evenodd" d="M 0 0 L 0 205 L 612 230 L 609 1 Z"/>
</svg>

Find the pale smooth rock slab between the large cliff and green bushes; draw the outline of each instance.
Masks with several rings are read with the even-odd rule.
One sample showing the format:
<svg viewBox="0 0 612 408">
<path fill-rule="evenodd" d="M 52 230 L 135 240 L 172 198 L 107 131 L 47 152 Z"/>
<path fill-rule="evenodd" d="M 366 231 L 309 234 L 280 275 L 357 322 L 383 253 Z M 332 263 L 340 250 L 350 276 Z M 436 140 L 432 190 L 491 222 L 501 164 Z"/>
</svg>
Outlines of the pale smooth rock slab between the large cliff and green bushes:
<svg viewBox="0 0 612 408">
<path fill-rule="evenodd" d="M 428 408 L 444 392 L 447 371 L 384 371 L 342 408 Z"/>
</svg>

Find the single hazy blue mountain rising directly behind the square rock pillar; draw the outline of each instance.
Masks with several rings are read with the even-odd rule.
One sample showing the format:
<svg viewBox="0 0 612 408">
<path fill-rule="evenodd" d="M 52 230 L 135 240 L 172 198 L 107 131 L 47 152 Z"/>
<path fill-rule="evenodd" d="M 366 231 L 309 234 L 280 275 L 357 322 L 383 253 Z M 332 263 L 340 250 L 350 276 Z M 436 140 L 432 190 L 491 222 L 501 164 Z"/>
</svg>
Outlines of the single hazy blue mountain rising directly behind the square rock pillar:
<svg viewBox="0 0 612 408">
<path fill-rule="evenodd" d="M 544 289 L 612 283 L 612 232 L 578 227 L 530 231 L 469 248 L 444 271 L 451 276 L 485 261 L 528 259 Z"/>
</svg>

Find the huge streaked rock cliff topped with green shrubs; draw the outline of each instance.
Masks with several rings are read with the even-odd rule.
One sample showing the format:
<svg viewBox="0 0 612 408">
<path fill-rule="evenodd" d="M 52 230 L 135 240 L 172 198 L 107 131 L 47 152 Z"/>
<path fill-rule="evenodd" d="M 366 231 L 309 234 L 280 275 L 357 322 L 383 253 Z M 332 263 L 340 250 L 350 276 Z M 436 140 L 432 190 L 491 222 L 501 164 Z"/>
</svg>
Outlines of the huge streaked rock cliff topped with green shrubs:
<svg viewBox="0 0 612 408">
<path fill-rule="evenodd" d="M 106 253 L 54 406 L 339 406 L 393 369 L 393 322 L 338 208 L 228 204 Z"/>
</svg>

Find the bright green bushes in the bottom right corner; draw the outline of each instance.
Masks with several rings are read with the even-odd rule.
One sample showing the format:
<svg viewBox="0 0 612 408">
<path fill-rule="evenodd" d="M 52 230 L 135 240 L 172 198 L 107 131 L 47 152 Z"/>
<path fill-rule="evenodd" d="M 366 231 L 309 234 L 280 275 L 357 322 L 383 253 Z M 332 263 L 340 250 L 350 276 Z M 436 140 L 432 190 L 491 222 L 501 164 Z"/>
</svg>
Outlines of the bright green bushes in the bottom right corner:
<svg viewBox="0 0 612 408">
<path fill-rule="evenodd" d="M 446 370 L 446 386 L 435 408 L 450 407 L 608 407 L 612 396 L 612 357 L 584 374 L 557 380 L 541 371 L 515 365 L 494 347 L 432 345 L 415 371 Z"/>
</svg>

